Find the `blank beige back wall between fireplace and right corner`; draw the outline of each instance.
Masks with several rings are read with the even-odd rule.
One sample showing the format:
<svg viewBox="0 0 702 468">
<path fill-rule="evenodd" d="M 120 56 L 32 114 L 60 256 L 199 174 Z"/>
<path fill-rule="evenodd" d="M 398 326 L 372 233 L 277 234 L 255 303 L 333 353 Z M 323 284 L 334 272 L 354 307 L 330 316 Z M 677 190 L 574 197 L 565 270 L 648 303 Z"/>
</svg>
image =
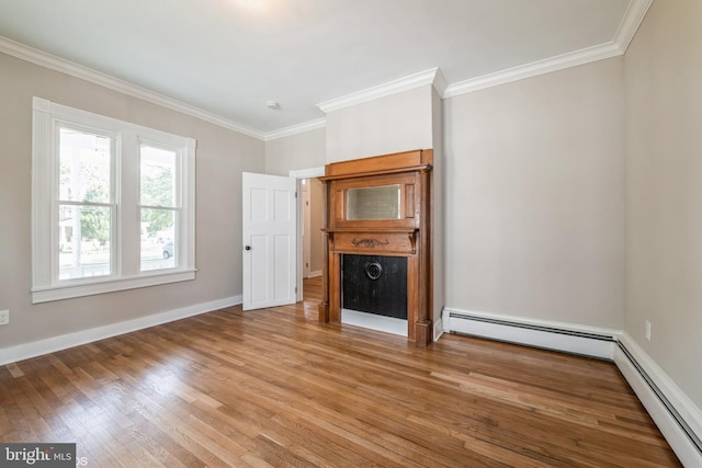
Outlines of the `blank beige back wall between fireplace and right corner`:
<svg viewBox="0 0 702 468">
<path fill-rule="evenodd" d="M 623 65 L 445 100 L 446 307 L 624 322 Z"/>
</svg>

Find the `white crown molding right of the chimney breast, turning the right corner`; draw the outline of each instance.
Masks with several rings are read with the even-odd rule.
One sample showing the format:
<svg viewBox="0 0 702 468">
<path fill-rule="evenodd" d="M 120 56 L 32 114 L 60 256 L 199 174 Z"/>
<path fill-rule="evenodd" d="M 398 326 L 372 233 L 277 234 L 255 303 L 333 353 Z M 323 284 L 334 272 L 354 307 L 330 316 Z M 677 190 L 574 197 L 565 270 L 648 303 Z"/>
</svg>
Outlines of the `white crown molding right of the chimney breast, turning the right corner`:
<svg viewBox="0 0 702 468">
<path fill-rule="evenodd" d="M 614 35 L 614 39 L 610 43 L 460 81 L 450 84 L 442 98 L 453 98 L 455 95 L 623 55 L 634 38 L 642 21 L 644 21 L 644 16 L 652 3 L 653 0 L 630 0 L 626 12 Z"/>
</svg>

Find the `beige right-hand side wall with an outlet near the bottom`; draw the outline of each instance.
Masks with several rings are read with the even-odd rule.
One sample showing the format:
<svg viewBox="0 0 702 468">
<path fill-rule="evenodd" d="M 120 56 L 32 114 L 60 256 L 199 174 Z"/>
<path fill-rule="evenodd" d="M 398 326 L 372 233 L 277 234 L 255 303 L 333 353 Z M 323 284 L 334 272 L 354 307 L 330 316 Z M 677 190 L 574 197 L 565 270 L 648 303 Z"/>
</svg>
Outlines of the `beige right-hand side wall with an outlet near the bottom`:
<svg viewBox="0 0 702 468">
<path fill-rule="evenodd" d="M 624 60 L 625 330 L 702 408 L 702 2 L 655 1 Z M 644 338 L 645 321 L 652 340 Z"/>
</svg>

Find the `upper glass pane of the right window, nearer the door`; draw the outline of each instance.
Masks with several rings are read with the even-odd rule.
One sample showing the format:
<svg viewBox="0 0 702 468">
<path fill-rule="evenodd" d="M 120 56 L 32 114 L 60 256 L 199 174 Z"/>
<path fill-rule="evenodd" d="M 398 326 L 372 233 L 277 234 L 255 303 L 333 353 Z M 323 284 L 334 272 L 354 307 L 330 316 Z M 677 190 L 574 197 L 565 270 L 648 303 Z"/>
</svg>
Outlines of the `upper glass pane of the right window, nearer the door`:
<svg viewBox="0 0 702 468">
<path fill-rule="evenodd" d="M 141 145 L 141 205 L 173 207 L 176 151 Z"/>
</svg>

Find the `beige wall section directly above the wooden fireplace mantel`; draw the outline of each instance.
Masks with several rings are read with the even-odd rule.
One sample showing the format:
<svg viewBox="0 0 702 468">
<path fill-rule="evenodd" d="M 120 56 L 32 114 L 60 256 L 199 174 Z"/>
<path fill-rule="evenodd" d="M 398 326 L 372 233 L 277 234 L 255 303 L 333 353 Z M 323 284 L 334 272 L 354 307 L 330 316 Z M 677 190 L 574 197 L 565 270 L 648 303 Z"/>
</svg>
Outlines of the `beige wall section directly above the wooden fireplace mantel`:
<svg viewBox="0 0 702 468">
<path fill-rule="evenodd" d="M 431 148 L 431 84 L 327 114 L 327 162 Z"/>
</svg>

